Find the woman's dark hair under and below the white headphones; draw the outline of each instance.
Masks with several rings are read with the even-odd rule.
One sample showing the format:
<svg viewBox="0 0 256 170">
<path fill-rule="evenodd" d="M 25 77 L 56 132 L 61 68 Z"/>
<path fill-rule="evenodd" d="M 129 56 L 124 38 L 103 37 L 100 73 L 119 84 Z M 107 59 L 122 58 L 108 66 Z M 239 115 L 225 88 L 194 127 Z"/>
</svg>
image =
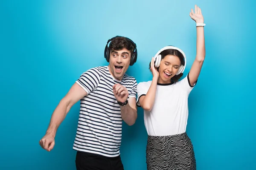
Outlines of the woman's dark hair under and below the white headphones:
<svg viewBox="0 0 256 170">
<path fill-rule="evenodd" d="M 164 57 L 166 57 L 167 55 L 173 55 L 173 56 L 176 56 L 176 57 L 179 57 L 180 59 L 180 64 L 181 65 L 185 65 L 185 60 L 184 60 L 184 57 L 183 55 L 181 54 L 180 51 L 178 50 L 175 50 L 175 49 L 167 49 L 167 50 L 164 50 L 160 53 L 161 55 L 161 60 L 164 59 Z M 149 69 L 150 69 L 150 65 L 151 65 L 151 62 L 149 63 Z M 159 71 L 159 68 L 157 68 L 157 71 Z M 174 77 L 171 78 L 171 81 L 172 82 L 177 82 L 181 77 L 183 76 L 183 73 L 180 73 L 178 75 L 175 75 Z"/>
</svg>

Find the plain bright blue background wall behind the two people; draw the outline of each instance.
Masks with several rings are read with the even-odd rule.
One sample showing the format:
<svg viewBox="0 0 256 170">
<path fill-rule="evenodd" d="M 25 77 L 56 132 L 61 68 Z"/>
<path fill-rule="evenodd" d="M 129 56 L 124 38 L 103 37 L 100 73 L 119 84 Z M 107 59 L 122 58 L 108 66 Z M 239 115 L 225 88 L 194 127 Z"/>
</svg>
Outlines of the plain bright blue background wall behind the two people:
<svg viewBox="0 0 256 170">
<path fill-rule="evenodd" d="M 206 59 L 189 96 L 187 125 L 197 169 L 255 169 L 253 0 L 1 1 L 0 169 L 75 170 L 79 102 L 59 127 L 54 149 L 39 145 L 58 102 L 82 72 L 108 64 L 104 48 L 116 35 L 137 44 L 137 62 L 128 69 L 137 82 L 151 79 L 148 63 L 166 45 L 186 53 L 186 75 L 196 54 L 189 17 L 195 4 L 206 23 Z M 146 169 L 146 140 L 139 108 L 135 125 L 123 124 L 125 170 Z"/>
</svg>

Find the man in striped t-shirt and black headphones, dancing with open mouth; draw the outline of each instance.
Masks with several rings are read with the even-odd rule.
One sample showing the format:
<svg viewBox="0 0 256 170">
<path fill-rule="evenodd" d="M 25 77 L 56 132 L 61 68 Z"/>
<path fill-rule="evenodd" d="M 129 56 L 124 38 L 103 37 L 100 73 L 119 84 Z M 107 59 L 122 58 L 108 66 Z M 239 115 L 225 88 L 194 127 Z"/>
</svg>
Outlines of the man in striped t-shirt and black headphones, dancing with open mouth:
<svg viewBox="0 0 256 170">
<path fill-rule="evenodd" d="M 45 150 L 52 150 L 59 125 L 80 100 L 73 144 L 73 149 L 77 150 L 77 170 L 123 170 L 119 153 L 122 120 L 133 125 L 137 119 L 137 81 L 125 74 L 129 65 L 137 60 L 136 44 L 126 37 L 113 37 L 105 47 L 105 59 L 108 66 L 84 72 L 61 99 L 39 142 Z"/>
</svg>

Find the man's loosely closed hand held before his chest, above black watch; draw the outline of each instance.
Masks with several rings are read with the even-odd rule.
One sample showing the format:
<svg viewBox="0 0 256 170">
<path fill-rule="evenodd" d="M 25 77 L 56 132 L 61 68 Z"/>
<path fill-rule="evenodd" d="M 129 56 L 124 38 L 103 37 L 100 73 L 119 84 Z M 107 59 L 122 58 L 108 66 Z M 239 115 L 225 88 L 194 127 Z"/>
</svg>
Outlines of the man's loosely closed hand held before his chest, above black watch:
<svg viewBox="0 0 256 170">
<path fill-rule="evenodd" d="M 129 96 L 127 88 L 120 84 L 113 85 L 113 93 L 119 102 L 125 102 Z"/>
</svg>

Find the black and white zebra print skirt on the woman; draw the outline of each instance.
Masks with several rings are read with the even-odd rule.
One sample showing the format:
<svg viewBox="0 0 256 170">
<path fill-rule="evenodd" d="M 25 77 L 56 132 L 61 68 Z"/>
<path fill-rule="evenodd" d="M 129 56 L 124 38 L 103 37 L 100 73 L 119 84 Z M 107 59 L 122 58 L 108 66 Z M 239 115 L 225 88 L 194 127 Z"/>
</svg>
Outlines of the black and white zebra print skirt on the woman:
<svg viewBox="0 0 256 170">
<path fill-rule="evenodd" d="M 193 145 L 186 132 L 172 136 L 148 136 L 147 170 L 196 170 Z"/>
</svg>

